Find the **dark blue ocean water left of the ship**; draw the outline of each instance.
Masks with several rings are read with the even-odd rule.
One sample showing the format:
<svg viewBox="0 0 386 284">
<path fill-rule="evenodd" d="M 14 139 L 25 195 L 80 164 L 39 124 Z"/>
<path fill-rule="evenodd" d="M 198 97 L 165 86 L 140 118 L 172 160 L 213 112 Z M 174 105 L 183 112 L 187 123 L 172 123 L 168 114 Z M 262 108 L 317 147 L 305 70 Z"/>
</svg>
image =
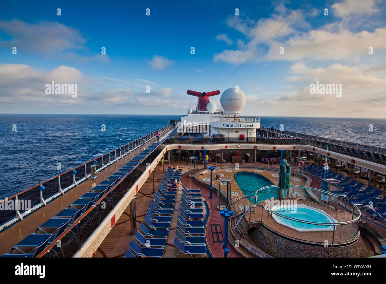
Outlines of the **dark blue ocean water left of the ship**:
<svg viewBox="0 0 386 284">
<path fill-rule="evenodd" d="M 180 118 L 0 114 L 0 199 L 167 126 L 169 119 Z M 14 124 L 17 132 L 12 131 Z M 58 163 L 61 170 L 57 170 Z"/>
</svg>

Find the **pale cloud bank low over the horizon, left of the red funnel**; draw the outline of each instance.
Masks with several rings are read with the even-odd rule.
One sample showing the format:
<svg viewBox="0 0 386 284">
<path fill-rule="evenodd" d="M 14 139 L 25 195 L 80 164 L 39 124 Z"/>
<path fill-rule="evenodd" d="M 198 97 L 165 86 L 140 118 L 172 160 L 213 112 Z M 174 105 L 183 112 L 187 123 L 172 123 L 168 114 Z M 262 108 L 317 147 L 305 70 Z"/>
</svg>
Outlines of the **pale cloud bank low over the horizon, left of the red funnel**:
<svg viewBox="0 0 386 284">
<path fill-rule="evenodd" d="M 109 87 L 109 83 L 98 80 L 93 84 L 90 78 L 84 77 L 80 70 L 69 66 L 58 66 L 52 70 L 38 70 L 24 64 L 0 65 L 0 111 L 20 113 L 20 109 L 27 109 L 30 113 L 42 109 L 43 113 L 71 113 L 74 108 L 85 113 L 87 109 L 114 113 L 154 114 L 159 109 L 188 108 L 189 101 L 185 94 L 178 94 L 173 88 L 158 88 L 158 84 L 144 79 L 121 80 L 110 77 L 99 77 L 107 82 L 114 82 L 123 87 Z M 47 83 L 77 83 L 78 96 L 47 95 Z M 128 85 L 141 85 L 142 90 L 134 90 Z M 146 93 L 146 85 L 151 85 L 151 92 Z M 102 87 L 102 89 L 100 88 Z M 173 100 L 168 98 L 173 94 Z"/>
</svg>

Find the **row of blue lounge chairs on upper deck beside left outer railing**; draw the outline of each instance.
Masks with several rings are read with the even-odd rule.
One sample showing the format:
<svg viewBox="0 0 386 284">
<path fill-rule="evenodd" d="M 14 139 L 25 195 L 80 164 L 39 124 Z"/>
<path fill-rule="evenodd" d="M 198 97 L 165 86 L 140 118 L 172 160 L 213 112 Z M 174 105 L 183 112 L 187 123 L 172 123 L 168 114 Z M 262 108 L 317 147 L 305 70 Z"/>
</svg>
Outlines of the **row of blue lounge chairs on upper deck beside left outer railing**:
<svg viewBox="0 0 386 284">
<path fill-rule="evenodd" d="M 138 163 L 141 162 L 151 151 L 153 151 L 159 143 L 153 143 L 146 150 L 135 156 L 130 162 L 124 165 L 120 170 L 113 173 L 105 181 L 101 182 L 90 192 L 84 194 L 79 199 L 71 203 L 68 208 L 63 209 L 54 217 L 46 221 L 36 229 L 35 233 L 28 235 L 22 241 L 12 247 L 10 253 L 5 253 L 1 257 L 36 257 L 41 253 L 47 245 L 50 245 L 58 236 L 60 236 L 76 219 L 83 213 L 88 211 L 91 206 L 95 206 L 95 202 L 101 199 L 115 184 L 117 184 L 128 172 L 132 171 Z M 113 197 L 119 195 L 119 189 L 111 191 L 103 200 L 112 204 Z M 57 250 L 60 250 L 65 256 L 64 248 L 66 244 L 72 240 L 79 241 L 81 228 L 91 226 L 93 219 L 99 216 L 99 210 L 103 210 L 100 206 L 95 206 L 94 214 L 90 213 L 85 216 L 82 223 L 76 224 L 68 233 L 68 240 L 61 240 L 60 246 L 54 246 L 50 249 L 50 253 L 54 256 L 59 256 Z"/>
</svg>

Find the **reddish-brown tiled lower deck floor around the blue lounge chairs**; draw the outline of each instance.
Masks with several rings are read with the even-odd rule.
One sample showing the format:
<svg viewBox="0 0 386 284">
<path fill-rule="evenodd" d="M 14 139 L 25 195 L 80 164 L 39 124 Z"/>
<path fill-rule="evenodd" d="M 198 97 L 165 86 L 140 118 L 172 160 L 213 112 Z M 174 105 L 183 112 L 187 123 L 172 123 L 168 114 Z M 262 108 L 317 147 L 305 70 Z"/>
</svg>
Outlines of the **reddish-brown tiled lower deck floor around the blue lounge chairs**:
<svg viewBox="0 0 386 284">
<path fill-rule="evenodd" d="M 254 165 L 254 164 L 248 164 L 248 163 L 242 163 L 242 165 Z M 188 172 L 188 165 L 181 161 L 181 160 L 175 160 L 171 162 L 170 164 L 165 163 L 164 168 L 166 169 L 168 165 L 178 165 L 180 169 L 182 169 L 183 173 Z M 211 163 L 210 164 L 213 167 L 220 167 L 222 165 L 234 165 L 231 163 Z M 257 162 L 256 165 L 263 165 L 267 166 L 267 164 L 259 163 Z M 203 165 L 199 165 L 200 168 L 203 168 Z M 278 168 L 278 165 L 270 165 L 270 167 Z M 296 165 L 295 165 L 296 167 Z M 243 169 L 244 170 L 244 169 Z M 264 176 L 268 177 L 273 182 L 277 182 L 277 177 L 272 177 L 271 172 L 264 171 L 264 172 L 258 172 L 259 174 L 263 174 Z M 163 177 L 163 171 L 162 166 L 158 165 L 156 169 L 154 170 L 154 178 L 155 178 L 155 189 L 158 189 L 159 181 Z M 205 228 L 205 236 L 207 239 L 207 245 L 212 253 L 213 257 L 223 257 L 223 230 L 224 230 L 224 219 L 220 216 L 219 211 L 217 209 L 217 197 L 216 192 L 213 191 L 212 196 L 213 199 L 208 199 L 210 196 L 209 189 L 206 187 L 201 186 L 198 184 L 193 178 L 188 177 L 188 175 L 184 175 L 181 179 L 182 184 L 184 184 L 186 187 L 190 187 L 191 189 L 200 189 L 201 195 L 204 200 L 208 202 L 209 208 L 210 208 L 210 217 L 207 223 L 207 226 Z M 291 180 L 291 182 L 295 182 Z M 300 184 L 304 184 L 304 180 L 301 180 L 299 182 Z M 315 177 L 312 177 L 312 183 L 311 187 L 320 187 L 320 180 L 316 179 Z M 232 186 L 233 191 L 233 186 Z M 152 180 L 148 179 L 146 183 L 141 187 L 139 192 L 137 193 L 136 197 L 136 209 L 137 209 L 137 228 L 141 221 L 143 221 L 143 217 L 146 214 L 146 211 L 148 209 L 148 206 L 151 202 L 153 196 L 153 188 L 152 188 Z M 174 207 L 174 214 L 173 219 L 170 226 L 170 233 L 168 237 L 168 244 L 166 246 L 166 252 L 164 254 L 164 257 L 175 257 L 175 246 L 173 244 L 174 242 L 174 235 L 176 230 L 176 223 L 177 223 L 177 217 L 178 217 L 178 210 L 179 210 L 179 202 L 181 201 L 181 190 L 179 190 L 178 197 L 176 199 L 176 206 Z M 302 201 L 303 202 L 303 201 Z M 304 203 L 304 202 L 303 202 Z M 324 207 L 325 208 L 325 207 Z M 346 216 L 347 217 L 347 216 Z M 344 217 L 344 218 L 346 218 Z M 348 217 L 347 217 L 348 218 Z M 272 219 L 271 217 L 269 219 Z M 133 238 L 132 235 L 130 235 L 130 213 L 129 213 L 129 207 L 125 210 L 125 213 L 122 214 L 122 216 L 118 219 L 117 223 L 114 225 L 110 233 L 107 235 L 105 240 L 102 242 L 100 247 L 98 248 L 96 254 L 93 257 L 123 257 L 125 254 L 128 245 Z M 272 220 L 273 221 L 273 220 Z M 274 221 L 273 221 L 274 222 Z M 276 222 L 274 222 L 276 224 Z M 275 224 L 272 224 L 274 226 Z M 276 226 L 279 226 L 276 224 Z M 386 236 L 386 230 L 384 228 L 381 228 L 376 225 L 372 225 L 377 228 L 381 233 L 383 232 Z M 284 227 L 284 226 L 281 226 Z M 291 230 L 287 227 L 284 227 L 284 230 L 290 230 L 295 232 L 294 230 Z M 298 233 L 298 232 L 297 232 Z M 304 232 L 302 232 L 304 233 Z M 312 232 L 307 232 L 312 233 Z M 323 239 L 325 239 L 325 234 L 323 233 Z M 328 233 L 327 233 L 328 234 Z M 320 233 L 318 236 L 316 236 L 316 239 L 320 239 Z M 230 252 L 228 253 L 228 257 L 241 257 L 239 253 L 236 252 L 236 250 L 232 247 L 230 243 L 228 243 L 228 248 Z M 186 257 L 186 255 L 184 256 Z"/>
</svg>

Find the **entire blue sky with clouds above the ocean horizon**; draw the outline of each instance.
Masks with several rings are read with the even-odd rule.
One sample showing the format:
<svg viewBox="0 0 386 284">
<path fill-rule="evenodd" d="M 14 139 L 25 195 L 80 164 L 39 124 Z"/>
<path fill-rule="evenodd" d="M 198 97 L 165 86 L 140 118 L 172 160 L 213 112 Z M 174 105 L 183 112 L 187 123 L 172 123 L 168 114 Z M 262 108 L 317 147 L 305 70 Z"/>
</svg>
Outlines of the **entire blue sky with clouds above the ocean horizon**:
<svg viewBox="0 0 386 284">
<path fill-rule="evenodd" d="M 238 85 L 245 115 L 386 117 L 385 1 L 310 1 L 220 84 L 303 1 L 274 0 L 247 34 L 270 2 L 2 1 L 0 112 L 184 114 L 197 101 L 186 90 Z M 52 80 L 77 97 L 45 94 Z M 316 81 L 342 97 L 311 95 Z"/>
</svg>

